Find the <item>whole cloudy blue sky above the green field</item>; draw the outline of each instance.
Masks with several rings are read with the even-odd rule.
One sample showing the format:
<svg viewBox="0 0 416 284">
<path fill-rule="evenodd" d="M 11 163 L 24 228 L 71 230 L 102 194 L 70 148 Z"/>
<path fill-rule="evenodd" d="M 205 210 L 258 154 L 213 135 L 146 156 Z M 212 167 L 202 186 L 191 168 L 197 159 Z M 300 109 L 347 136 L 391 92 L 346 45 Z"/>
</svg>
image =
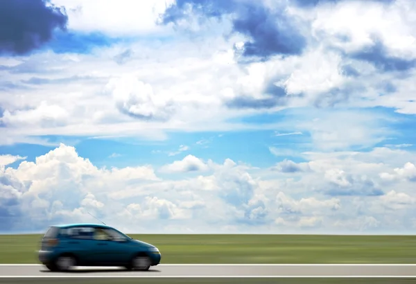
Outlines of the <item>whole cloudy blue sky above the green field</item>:
<svg viewBox="0 0 416 284">
<path fill-rule="evenodd" d="M 413 0 L 1 0 L 0 232 L 416 233 Z"/>
</svg>

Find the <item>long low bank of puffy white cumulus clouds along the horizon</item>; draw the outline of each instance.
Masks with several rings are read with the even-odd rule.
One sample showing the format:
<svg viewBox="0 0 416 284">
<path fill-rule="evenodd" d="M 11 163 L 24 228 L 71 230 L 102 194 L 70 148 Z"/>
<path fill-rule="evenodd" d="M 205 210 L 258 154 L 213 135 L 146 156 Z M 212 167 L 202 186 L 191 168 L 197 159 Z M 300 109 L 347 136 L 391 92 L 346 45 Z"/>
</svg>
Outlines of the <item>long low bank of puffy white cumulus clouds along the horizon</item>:
<svg viewBox="0 0 416 284">
<path fill-rule="evenodd" d="M 374 159 L 388 158 L 389 151 L 396 157 L 404 152 L 383 151 L 383 156 L 378 156 L 380 150 L 338 156 L 309 153 L 315 157 L 308 162 L 313 170 L 298 179 L 279 172 L 268 177 L 262 170 L 254 171 L 231 159 L 203 163 L 188 156 L 176 169 L 183 170 L 187 161 L 194 161 L 211 171 L 169 180 L 157 177 L 150 166 L 97 168 L 79 157 L 75 148 L 60 145 L 34 162 L 21 161 L 17 168 L 0 169 L 0 207 L 1 212 L 7 212 L 0 217 L 7 221 L 1 223 L 1 229 L 42 229 L 55 222 L 85 222 L 91 213 L 119 228 L 139 221 L 128 231 L 157 232 L 166 226 L 173 232 L 184 228 L 196 232 L 257 228 L 269 233 L 339 228 L 349 233 L 392 228 L 406 231 L 415 202 L 409 180 L 401 181 L 405 183 L 401 190 L 394 184 L 380 184 L 385 194 L 375 197 L 354 190 L 349 195 L 330 196 L 331 184 L 359 190 L 356 183 L 365 184 L 364 178 L 381 181 L 379 173 L 394 167 L 374 163 Z M 405 153 L 400 157 L 402 164 L 411 156 Z M 385 215 L 386 209 L 389 215 Z"/>
</svg>

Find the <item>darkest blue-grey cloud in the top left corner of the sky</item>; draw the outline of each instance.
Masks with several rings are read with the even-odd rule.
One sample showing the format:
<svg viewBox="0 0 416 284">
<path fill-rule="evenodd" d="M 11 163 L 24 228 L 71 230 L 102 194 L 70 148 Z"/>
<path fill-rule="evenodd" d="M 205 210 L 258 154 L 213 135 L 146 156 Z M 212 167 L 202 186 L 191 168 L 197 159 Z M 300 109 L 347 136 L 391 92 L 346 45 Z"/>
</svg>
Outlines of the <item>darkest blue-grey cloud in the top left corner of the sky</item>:
<svg viewBox="0 0 416 284">
<path fill-rule="evenodd" d="M 42 0 L 0 1 L 0 53 L 24 55 L 51 40 L 53 30 L 66 30 L 64 9 Z"/>
</svg>

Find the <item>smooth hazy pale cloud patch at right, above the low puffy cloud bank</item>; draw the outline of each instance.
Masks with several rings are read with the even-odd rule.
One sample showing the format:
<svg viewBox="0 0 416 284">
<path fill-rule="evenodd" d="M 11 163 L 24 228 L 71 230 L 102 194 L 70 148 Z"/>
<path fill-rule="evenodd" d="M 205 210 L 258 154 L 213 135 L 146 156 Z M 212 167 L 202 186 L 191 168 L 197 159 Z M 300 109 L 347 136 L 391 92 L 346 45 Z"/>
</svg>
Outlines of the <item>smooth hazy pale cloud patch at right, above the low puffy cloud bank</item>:
<svg viewBox="0 0 416 284">
<path fill-rule="evenodd" d="M 281 123 L 275 125 L 281 131 L 302 132 L 304 138 L 296 143 L 297 149 L 270 145 L 275 156 L 297 156 L 311 148 L 320 152 L 370 148 L 390 139 L 397 130 L 390 126 L 398 118 L 370 110 L 345 109 L 293 109 Z M 279 137 L 277 137 L 279 138 Z M 279 140 L 275 140 L 279 142 Z"/>
</svg>

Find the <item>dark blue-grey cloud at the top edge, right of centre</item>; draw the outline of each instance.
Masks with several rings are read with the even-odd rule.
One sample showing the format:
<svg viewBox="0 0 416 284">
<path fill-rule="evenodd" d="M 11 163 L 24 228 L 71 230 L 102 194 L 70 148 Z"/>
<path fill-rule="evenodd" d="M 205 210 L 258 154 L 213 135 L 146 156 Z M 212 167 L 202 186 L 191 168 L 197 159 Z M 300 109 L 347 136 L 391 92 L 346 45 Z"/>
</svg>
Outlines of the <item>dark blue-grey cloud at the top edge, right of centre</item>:
<svg viewBox="0 0 416 284">
<path fill-rule="evenodd" d="M 280 9 L 270 10 L 260 1 L 177 0 L 166 9 L 161 24 L 176 24 L 190 15 L 232 19 L 232 33 L 245 35 L 243 57 L 266 58 L 272 55 L 297 55 L 306 46 L 306 39 Z"/>
</svg>

